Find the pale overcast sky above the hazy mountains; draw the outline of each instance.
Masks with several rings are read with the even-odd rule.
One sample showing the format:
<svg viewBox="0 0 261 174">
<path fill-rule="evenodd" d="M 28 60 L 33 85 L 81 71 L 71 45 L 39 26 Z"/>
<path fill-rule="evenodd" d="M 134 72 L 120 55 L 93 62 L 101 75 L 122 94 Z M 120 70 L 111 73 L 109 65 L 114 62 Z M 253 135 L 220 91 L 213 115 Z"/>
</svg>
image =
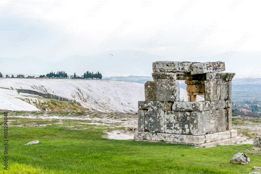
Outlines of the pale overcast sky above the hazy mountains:
<svg viewBox="0 0 261 174">
<path fill-rule="evenodd" d="M 1 0 L 0 57 L 55 61 L 146 45 L 146 53 L 170 59 L 233 47 L 261 51 L 260 6 L 260 0 Z"/>
</svg>

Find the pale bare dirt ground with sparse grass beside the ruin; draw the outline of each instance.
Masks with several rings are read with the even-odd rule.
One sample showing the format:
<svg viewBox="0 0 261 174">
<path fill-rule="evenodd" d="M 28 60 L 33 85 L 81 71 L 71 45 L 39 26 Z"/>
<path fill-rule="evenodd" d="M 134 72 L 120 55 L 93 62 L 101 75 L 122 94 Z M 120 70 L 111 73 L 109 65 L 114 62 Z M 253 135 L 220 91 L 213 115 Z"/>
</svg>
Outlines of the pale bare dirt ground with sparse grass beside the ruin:
<svg viewBox="0 0 261 174">
<path fill-rule="evenodd" d="M 90 112 L 25 112 L 11 111 L 9 125 L 13 126 L 48 126 L 58 124 L 71 129 L 88 129 L 90 125 L 94 129 L 102 130 L 108 139 L 129 140 L 133 139 L 133 131 L 123 131 L 124 128 L 137 128 L 137 114 L 126 113 L 90 113 Z M 87 127 L 86 125 L 89 125 Z M 232 129 L 238 130 L 238 137 L 231 140 L 222 140 L 209 144 L 239 145 L 253 144 L 255 136 L 261 136 L 261 119 L 246 116 L 232 117 Z"/>
</svg>

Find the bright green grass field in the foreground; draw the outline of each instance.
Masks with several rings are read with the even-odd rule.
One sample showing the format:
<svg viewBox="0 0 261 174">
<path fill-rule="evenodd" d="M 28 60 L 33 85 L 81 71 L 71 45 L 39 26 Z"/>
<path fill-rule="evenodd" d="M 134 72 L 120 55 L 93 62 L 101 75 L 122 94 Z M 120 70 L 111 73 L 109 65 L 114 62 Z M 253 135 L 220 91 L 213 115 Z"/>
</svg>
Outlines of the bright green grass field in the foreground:
<svg viewBox="0 0 261 174">
<path fill-rule="evenodd" d="M 9 127 L 8 172 L 1 165 L 0 173 L 249 173 L 261 166 L 261 151 L 252 145 L 194 148 L 103 135 L 95 129 Z M 40 143 L 23 146 L 33 140 Z M 230 163 L 238 152 L 246 153 L 250 163 Z"/>
</svg>

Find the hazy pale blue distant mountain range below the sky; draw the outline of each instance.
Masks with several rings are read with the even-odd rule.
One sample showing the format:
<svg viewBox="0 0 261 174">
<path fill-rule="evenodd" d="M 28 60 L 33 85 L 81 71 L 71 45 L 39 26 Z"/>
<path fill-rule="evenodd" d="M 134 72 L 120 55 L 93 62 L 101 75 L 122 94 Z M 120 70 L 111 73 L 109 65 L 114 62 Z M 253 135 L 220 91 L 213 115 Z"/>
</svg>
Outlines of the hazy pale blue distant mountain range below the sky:
<svg viewBox="0 0 261 174">
<path fill-rule="evenodd" d="M 112 54 L 113 56 L 109 55 Z M 18 58 L 0 58 L 0 72 L 6 74 L 45 75 L 51 71 L 66 71 L 68 75 L 83 75 L 86 71 L 99 71 L 103 77 L 111 76 L 150 76 L 152 62 L 156 61 L 190 61 L 215 62 L 225 61 L 226 72 L 235 72 L 236 77 L 261 77 L 261 51 L 235 51 L 229 56 L 228 52 L 211 57 L 188 57 L 185 59 L 167 59 L 157 55 L 144 53 L 138 59 L 138 51 L 112 50 L 90 56 L 70 56 L 62 61 L 53 62 L 32 56 Z M 227 57 L 225 57 L 228 55 Z M 225 59 L 224 59 L 225 57 Z M 143 78 L 143 77 L 140 77 Z M 115 78 L 114 78 L 115 79 Z M 142 80 L 142 79 L 140 79 Z"/>
</svg>

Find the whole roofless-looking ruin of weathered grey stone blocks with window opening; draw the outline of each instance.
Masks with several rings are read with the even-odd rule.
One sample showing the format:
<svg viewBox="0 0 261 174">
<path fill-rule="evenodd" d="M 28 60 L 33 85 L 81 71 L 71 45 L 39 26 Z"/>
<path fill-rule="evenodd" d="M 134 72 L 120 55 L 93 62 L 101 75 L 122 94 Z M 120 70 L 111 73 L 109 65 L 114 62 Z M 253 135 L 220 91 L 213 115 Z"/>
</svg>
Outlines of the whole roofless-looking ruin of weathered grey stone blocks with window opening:
<svg viewBox="0 0 261 174">
<path fill-rule="evenodd" d="M 153 63 L 154 81 L 145 83 L 145 101 L 138 101 L 136 141 L 204 145 L 237 137 L 232 130 L 232 78 L 224 62 Z M 188 101 L 180 101 L 185 80 Z M 204 95 L 204 101 L 197 101 Z"/>
</svg>

